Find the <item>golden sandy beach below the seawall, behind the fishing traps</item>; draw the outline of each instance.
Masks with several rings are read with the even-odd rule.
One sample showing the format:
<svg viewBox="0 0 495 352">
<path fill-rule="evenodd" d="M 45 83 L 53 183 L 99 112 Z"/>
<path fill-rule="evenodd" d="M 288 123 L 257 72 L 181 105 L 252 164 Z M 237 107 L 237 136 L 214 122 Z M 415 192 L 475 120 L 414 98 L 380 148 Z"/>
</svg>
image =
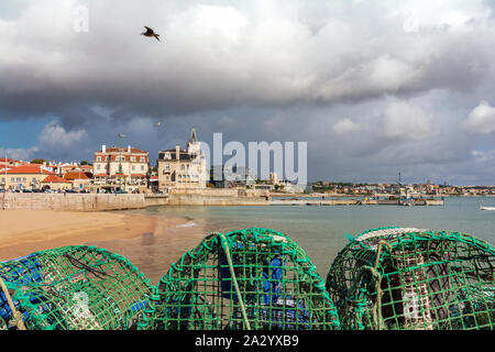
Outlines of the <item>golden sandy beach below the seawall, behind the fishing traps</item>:
<svg viewBox="0 0 495 352">
<path fill-rule="evenodd" d="M 0 211 L 0 261 L 66 245 L 96 245 L 124 255 L 153 283 L 206 235 L 183 218 L 125 212 Z"/>
</svg>

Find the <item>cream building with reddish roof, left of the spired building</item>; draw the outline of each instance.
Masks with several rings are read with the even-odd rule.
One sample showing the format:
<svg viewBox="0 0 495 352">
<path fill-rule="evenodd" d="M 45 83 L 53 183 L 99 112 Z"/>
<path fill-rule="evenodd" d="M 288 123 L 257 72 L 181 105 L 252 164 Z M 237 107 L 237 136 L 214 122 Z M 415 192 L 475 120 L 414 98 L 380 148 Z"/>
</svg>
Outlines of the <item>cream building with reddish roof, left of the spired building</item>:
<svg viewBox="0 0 495 352">
<path fill-rule="evenodd" d="M 148 153 L 136 147 L 107 147 L 95 153 L 94 186 L 97 193 L 142 193 L 147 189 Z"/>
</svg>

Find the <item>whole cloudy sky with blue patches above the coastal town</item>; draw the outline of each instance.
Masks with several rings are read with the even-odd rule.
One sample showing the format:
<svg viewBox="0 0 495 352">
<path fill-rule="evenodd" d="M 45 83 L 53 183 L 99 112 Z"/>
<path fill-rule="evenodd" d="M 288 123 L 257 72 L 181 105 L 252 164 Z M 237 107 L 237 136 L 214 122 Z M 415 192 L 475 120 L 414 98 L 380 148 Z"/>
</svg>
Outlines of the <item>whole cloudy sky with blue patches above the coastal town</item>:
<svg viewBox="0 0 495 352">
<path fill-rule="evenodd" d="M 310 182 L 400 172 L 494 185 L 494 11 L 486 0 L 1 1 L 0 155 L 70 162 L 131 144 L 154 161 L 195 128 L 210 144 L 216 132 L 307 142 Z"/>
</svg>

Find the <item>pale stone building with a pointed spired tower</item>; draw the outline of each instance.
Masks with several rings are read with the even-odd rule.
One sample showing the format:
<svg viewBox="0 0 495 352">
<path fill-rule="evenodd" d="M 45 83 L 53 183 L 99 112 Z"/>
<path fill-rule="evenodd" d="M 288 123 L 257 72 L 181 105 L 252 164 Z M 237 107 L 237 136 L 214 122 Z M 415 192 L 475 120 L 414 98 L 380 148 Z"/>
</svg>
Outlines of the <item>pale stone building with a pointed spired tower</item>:
<svg viewBox="0 0 495 352">
<path fill-rule="evenodd" d="M 208 179 L 206 156 L 195 129 L 191 131 L 186 150 L 176 145 L 173 150 L 162 151 L 158 153 L 157 164 L 161 191 L 174 188 L 206 188 Z"/>
</svg>

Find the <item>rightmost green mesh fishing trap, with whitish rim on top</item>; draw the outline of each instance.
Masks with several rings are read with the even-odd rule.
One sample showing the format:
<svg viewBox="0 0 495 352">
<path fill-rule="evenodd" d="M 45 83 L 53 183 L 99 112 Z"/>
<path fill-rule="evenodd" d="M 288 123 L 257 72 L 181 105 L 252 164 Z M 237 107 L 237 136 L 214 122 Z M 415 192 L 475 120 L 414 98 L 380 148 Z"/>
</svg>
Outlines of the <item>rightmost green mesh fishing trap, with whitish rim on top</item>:
<svg viewBox="0 0 495 352">
<path fill-rule="evenodd" d="M 342 329 L 493 329 L 494 265 L 468 234 L 382 228 L 339 253 L 327 288 Z"/>
</svg>

